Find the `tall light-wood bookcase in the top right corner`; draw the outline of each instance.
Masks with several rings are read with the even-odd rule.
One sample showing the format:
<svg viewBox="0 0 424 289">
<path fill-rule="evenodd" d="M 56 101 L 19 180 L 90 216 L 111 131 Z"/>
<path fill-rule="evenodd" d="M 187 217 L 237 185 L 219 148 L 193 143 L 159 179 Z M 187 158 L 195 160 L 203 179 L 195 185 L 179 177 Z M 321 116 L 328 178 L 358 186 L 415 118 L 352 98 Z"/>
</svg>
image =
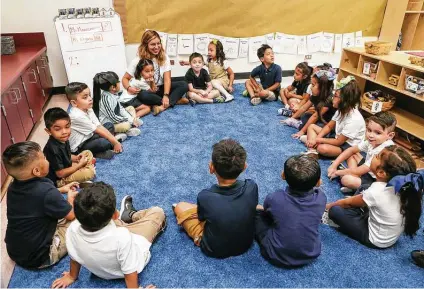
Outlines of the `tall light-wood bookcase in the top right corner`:
<svg viewBox="0 0 424 289">
<path fill-rule="evenodd" d="M 388 0 L 379 40 L 393 43 L 402 32 L 401 50 L 424 50 L 424 0 Z"/>
</svg>

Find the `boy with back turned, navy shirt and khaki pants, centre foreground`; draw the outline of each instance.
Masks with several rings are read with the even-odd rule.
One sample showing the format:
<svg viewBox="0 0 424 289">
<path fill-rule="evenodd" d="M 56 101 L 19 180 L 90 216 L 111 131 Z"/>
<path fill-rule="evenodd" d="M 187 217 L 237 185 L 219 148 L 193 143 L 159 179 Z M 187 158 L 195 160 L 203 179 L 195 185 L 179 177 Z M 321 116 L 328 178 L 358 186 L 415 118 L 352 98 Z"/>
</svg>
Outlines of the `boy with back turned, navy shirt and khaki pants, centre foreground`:
<svg viewBox="0 0 424 289">
<path fill-rule="evenodd" d="M 253 243 L 258 186 L 249 179 L 237 180 L 246 166 L 244 148 L 235 140 L 221 140 L 214 144 L 209 163 L 218 184 L 202 190 L 197 205 L 173 205 L 178 224 L 207 256 L 241 255 Z"/>
</svg>

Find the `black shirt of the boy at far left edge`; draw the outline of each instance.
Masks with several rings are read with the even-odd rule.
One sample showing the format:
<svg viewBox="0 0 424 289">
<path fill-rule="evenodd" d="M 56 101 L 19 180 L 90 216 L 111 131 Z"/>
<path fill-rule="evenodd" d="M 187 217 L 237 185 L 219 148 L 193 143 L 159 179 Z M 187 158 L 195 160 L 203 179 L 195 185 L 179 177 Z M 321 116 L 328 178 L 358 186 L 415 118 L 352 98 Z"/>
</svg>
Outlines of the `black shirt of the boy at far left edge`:
<svg viewBox="0 0 424 289">
<path fill-rule="evenodd" d="M 49 260 L 58 220 L 71 205 L 48 178 L 14 180 L 7 190 L 7 253 L 16 264 L 38 268 Z"/>
</svg>

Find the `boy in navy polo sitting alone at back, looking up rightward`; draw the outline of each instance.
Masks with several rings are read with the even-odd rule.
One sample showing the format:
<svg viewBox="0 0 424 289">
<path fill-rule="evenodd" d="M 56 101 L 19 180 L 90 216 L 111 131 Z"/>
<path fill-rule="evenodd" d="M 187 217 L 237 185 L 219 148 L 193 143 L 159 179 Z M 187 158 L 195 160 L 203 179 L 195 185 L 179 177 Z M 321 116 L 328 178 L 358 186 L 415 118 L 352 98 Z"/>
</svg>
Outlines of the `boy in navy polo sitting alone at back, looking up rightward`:
<svg viewBox="0 0 424 289">
<path fill-rule="evenodd" d="M 250 95 L 250 103 L 258 105 L 263 99 L 268 101 L 276 100 L 280 93 L 280 83 L 282 77 L 281 67 L 274 63 L 274 52 L 271 46 L 263 44 L 257 52 L 261 65 L 255 67 L 246 80 L 246 90 L 244 96 Z M 259 77 L 261 83 L 257 83 L 255 77 Z"/>
</svg>

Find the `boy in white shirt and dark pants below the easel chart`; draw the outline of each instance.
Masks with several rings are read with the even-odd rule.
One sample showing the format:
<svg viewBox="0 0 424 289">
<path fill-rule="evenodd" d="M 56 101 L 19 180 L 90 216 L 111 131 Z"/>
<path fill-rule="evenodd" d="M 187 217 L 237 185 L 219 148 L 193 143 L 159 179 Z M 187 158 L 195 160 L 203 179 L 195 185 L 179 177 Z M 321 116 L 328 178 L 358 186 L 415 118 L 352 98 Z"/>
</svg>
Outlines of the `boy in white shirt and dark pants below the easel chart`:
<svg viewBox="0 0 424 289">
<path fill-rule="evenodd" d="M 89 150 L 96 158 L 111 159 L 115 153 L 122 152 L 120 141 L 126 134 L 118 134 L 108 122 L 102 125 L 93 111 L 93 99 L 87 84 L 71 82 L 65 87 L 66 96 L 72 105 L 69 112 L 71 118 L 71 136 L 69 144 L 71 152 L 80 153 Z"/>
</svg>

